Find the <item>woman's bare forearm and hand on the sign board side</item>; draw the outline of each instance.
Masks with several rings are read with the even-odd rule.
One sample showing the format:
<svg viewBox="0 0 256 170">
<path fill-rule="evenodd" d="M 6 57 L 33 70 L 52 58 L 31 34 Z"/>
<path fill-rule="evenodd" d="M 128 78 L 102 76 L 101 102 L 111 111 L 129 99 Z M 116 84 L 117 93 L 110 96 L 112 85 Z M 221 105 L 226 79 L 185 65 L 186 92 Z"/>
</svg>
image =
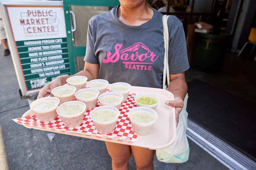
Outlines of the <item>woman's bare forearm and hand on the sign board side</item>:
<svg viewBox="0 0 256 170">
<path fill-rule="evenodd" d="M 99 64 L 91 64 L 88 62 L 85 62 L 84 64 L 84 70 L 72 75 L 72 76 L 86 76 L 88 78 L 87 81 L 97 79 L 99 75 Z M 51 91 L 53 88 L 61 86 L 66 84 L 66 79 L 72 76 L 61 76 L 57 77 L 53 81 L 49 82 L 47 85 L 45 85 L 41 90 L 39 91 L 39 94 L 37 96 L 37 99 L 41 97 L 47 97 L 49 95 L 53 96 L 51 94 Z"/>
</svg>

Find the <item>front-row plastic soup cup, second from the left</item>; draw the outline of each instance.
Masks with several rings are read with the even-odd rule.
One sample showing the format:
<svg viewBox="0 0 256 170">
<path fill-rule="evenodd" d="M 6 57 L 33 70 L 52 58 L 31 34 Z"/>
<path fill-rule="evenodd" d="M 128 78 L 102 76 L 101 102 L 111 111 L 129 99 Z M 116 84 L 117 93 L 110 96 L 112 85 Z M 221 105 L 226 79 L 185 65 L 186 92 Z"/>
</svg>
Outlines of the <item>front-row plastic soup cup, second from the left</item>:
<svg viewBox="0 0 256 170">
<path fill-rule="evenodd" d="M 68 111 L 63 111 L 61 109 L 61 107 L 65 106 L 65 105 L 69 105 L 69 104 L 78 104 L 80 106 L 82 106 L 82 111 L 78 113 L 76 113 L 76 108 L 73 108 L 72 110 L 76 113 L 70 113 L 69 115 L 67 114 Z M 83 115 L 84 115 L 84 111 L 86 109 L 86 104 L 84 104 L 83 102 L 80 101 L 69 101 L 66 103 L 61 104 L 58 108 L 57 108 L 57 113 L 60 115 L 60 118 L 62 119 L 64 125 L 68 128 L 76 128 L 79 125 L 81 125 L 81 123 L 83 122 Z"/>
</svg>

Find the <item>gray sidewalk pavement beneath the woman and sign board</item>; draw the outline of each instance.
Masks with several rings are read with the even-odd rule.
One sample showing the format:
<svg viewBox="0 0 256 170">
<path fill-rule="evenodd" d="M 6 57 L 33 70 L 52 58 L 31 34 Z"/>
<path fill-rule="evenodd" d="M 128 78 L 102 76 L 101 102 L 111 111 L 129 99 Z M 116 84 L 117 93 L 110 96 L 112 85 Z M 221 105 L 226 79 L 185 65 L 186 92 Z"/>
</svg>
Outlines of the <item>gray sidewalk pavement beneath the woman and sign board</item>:
<svg viewBox="0 0 256 170">
<path fill-rule="evenodd" d="M 21 117 L 29 110 L 28 101 L 21 100 L 18 93 L 11 55 L 3 56 L 0 47 L 0 125 L 4 147 L 0 142 L 1 169 L 111 169 L 111 158 L 103 141 L 79 138 L 65 134 L 55 134 L 50 142 L 50 132 L 28 129 L 11 119 Z M 1 131 L 0 131 L 1 133 Z M 190 157 L 183 164 L 159 162 L 155 156 L 154 168 L 165 169 L 228 169 L 193 141 L 189 140 Z M 4 150 L 5 149 L 5 150 Z M 8 166 L 4 151 L 6 153 Z M 4 166 L 5 165 L 5 166 Z M 133 157 L 129 169 L 136 169 Z"/>
</svg>

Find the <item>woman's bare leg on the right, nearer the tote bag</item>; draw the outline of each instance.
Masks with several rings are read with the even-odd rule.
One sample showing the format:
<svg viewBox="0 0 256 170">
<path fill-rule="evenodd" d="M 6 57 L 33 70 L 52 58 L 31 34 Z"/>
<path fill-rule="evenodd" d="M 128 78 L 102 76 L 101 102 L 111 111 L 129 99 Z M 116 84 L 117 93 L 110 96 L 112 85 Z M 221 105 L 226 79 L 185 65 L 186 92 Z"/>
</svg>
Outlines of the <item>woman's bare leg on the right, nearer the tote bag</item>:
<svg viewBox="0 0 256 170">
<path fill-rule="evenodd" d="M 155 150 L 131 146 L 131 152 L 134 157 L 137 170 L 154 169 L 153 160 L 156 152 Z"/>
</svg>

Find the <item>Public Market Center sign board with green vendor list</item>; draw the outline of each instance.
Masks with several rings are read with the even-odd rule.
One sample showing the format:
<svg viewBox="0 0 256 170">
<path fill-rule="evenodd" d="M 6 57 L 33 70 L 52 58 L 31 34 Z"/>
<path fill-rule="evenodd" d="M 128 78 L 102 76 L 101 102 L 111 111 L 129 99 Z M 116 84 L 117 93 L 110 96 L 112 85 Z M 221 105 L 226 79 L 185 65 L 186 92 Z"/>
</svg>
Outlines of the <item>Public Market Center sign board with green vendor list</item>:
<svg viewBox="0 0 256 170">
<path fill-rule="evenodd" d="M 5 5 L 4 9 L 22 96 L 36 94 L 58 76 L 70 75 L 63 7 Z"/>
</svg>

